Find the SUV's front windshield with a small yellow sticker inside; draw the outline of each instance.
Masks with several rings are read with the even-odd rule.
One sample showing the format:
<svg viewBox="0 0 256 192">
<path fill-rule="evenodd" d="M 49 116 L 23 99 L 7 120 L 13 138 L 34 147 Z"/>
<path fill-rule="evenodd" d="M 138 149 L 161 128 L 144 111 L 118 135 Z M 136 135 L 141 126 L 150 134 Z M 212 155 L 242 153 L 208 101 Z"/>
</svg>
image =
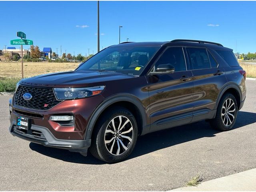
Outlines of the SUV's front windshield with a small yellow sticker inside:
<svg viewBox="0 0 256 192">
<path fill-rule="evenodd" d="M 160 46 L 106 48 L 76 70 L 105 70 L 140 75 L 159 48 Z"/>
</svg>

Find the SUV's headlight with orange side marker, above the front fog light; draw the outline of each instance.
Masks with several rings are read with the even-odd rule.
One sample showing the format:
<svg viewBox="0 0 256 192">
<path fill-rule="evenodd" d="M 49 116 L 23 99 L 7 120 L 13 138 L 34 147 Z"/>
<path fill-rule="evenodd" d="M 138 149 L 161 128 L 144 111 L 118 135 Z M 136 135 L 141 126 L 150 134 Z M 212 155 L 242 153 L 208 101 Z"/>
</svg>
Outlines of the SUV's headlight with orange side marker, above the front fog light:
<svg viewBox="0 0 256 192">
<path fill-rule="evenodd" d="M 105 86 L 85 87 L 85 88 L 54 88 L 55 96 L 58 100 L 79 99 L 101 94 Z"/>
</svg>

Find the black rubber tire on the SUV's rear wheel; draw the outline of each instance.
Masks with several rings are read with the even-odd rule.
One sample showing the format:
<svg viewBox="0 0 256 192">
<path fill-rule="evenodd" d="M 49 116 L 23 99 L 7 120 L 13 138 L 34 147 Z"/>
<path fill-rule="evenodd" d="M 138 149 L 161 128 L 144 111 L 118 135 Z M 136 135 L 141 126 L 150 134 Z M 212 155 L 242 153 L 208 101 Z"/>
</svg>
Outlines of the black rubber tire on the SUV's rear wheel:
<svg viewBox="0 0 256 192">
<path fill-rule="evenodd" d="M 226 116 L 227 117 L 227 119 L 226 119 L 225 115 L 223 115 L 226 113 L 226 108 L 225 109 L 223 108 L 223 107 L 225 107 L 224 103 L 227 101 L 226 104 L 228 105 L 228 102 L 231 102 L 231 100 L 234 102 L 234 107 L 232 106 L 230 108 L 230 111 L 235 110 L 235 113 L 232 112 L 232 115 L 234 116 L 234 118 L 229 115 L 229 117 Z M 232 104 L 232 102 L 231 102 L 231 104 Z M 238 112 L 238 106 L 237 106 L 236 98 L 231 93 L 226 93 L 220 99 L 220 102 L 218 104 L 218 108 L 216 111 L 216 116 L 214 119 L 210 120 L 210 125 L 212 126 L 212 128 L 215 128 L 217 130 L 228 131 L 233 128 L 233 126 L 236 122 L 237 112 Z M 229 120 L 228 120 L 228 118 L 229 118 Z M 232 121 L 232 123 L 230 124 L 231 121 Z"/>
</svg>

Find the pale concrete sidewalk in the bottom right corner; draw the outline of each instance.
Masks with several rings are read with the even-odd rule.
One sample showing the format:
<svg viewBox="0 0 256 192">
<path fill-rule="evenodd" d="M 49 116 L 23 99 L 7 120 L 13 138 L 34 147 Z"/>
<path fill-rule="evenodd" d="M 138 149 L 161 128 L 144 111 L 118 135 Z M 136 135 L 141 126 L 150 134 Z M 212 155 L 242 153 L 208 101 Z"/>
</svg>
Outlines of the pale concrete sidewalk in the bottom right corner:
<svg viewBox="0 0 256 192">
<path fill-rule="evenodd" d="M 256 168 L 172 191 L 256 191 Z"/>
</svg>

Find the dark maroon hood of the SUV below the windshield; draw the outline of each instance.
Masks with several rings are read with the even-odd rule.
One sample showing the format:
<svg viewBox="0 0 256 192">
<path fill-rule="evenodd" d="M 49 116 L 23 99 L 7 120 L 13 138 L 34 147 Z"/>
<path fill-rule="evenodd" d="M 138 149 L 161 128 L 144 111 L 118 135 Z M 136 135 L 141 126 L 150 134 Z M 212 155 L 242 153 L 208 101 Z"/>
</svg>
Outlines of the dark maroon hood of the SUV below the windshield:
<svg viewBox="0 0 256 192">
<path fill-rule="evenodd" d="M 20 81 L 20 84 L 48 87 L 79 87 L 106 81 L 134 78 L 112 71 L 70 71 L 35 76 Z"/>
</svg>

